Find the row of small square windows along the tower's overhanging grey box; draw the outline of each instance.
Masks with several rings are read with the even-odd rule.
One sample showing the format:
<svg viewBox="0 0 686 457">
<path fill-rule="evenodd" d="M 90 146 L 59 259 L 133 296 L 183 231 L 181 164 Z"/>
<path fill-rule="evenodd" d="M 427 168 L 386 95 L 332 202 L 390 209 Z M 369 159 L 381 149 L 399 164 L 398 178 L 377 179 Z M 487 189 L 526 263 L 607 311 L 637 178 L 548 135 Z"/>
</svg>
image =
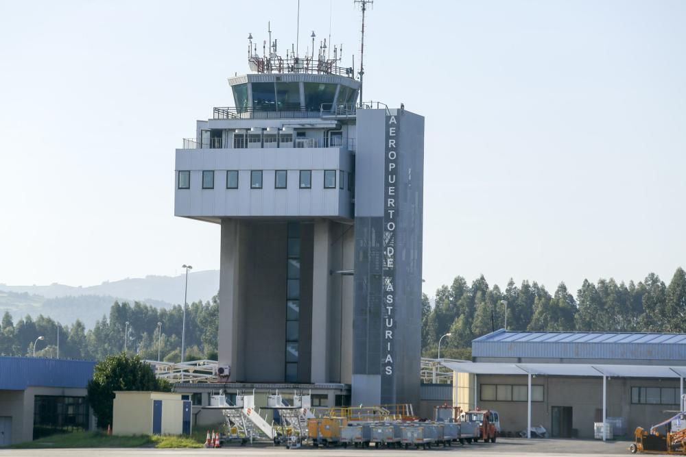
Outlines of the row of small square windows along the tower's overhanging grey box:
<svg viewBox="0 0 686 457">
<path fill-rule="evenodd" d="M 250 188 L 251 189 L 261 189 L 262 188 L 262 170 L 250 170 Z M 345 171 L 338 170 L 338 186 L 341 190 L 344 188 L 345 181 Z M 202 188 L 213 189 L 215 181 L 215 171 L 205 170 L 202 172 Z M 285 189 L 288 187 L 288 173 L 286 170 L 275 170 L 274 171 L 274 188 L 275 189 Z M 178 188 L 189 189 L 191 188 L 191 172 L 188 170 L 180 170 L 178 172 Z M 227 189 L 237 189 L 238 188 L 238 170 L 227 170 L 226 171 L 226 188 Z M 311 170 L 300 170 L 300 188 L 309 189 L 312 188 L 312 171 Z M 336 170 L 324 170 L 324 188 L 325 189 L 335 189 L 336 188 Z M 348 173 L 348 190 L 353 188 L 353 174 Z"/>
</svg>

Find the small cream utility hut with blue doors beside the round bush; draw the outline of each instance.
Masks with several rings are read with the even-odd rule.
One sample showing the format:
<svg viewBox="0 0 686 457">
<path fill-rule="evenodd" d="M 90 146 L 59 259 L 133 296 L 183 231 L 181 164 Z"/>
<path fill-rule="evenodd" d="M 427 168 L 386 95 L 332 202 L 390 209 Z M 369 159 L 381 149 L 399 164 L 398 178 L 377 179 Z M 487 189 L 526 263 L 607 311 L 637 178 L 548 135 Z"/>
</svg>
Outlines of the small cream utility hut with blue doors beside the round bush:
<svg viewBox="0 0 686 457">
<path fill-rule="evenodd" d="M 191 434 L 191 401 L 180 393 L 115 391 L 115 435 Z"/>
</svg>

